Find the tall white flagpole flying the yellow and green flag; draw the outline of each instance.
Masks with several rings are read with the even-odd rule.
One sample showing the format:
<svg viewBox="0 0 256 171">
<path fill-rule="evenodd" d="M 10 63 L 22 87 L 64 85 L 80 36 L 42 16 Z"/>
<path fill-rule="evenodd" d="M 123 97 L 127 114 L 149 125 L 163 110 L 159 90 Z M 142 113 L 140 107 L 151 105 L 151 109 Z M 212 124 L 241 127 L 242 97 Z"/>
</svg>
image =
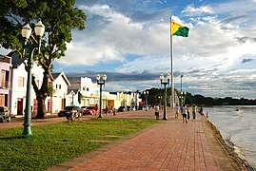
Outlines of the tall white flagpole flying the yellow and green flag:
<svg viewBox="0 0 256 171">
<path fill-rule="evenodd" d="M 171 16 L 170 16 L 170 36 L 169 36 L 169 55 L 170 55 L 170 73 L 171 73 L 171 108 L 174 108 L 174 80 L 173 80 L 173 41 L 171 35 Z"/>
</svg>

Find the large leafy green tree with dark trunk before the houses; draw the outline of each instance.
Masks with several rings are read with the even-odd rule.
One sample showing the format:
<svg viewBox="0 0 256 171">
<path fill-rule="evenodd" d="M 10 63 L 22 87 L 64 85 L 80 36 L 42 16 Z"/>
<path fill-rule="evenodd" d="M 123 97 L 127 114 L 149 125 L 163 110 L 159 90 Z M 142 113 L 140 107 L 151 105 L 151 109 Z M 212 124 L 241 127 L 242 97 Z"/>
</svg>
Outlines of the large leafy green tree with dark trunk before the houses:
<svg viewBox="0 0 256 171">
<path fill-rule="evenodd" d="M 33 60 L 44 69 L 43 83 L 32 86 L 38 101 L 37 118 L 46 118 L 46 98 L 49 96 L 49 76 L 54 60 L 65 56 L 71 42 L 72 28 L 85 28 L 86 14 L 74 8 L 75 0 L 0 0 L 0 46 L 22 54 L 21 28 L 27 23 L 41 20 L 46 27 L 41 53 Z M 33 27 L 33 26 L 32 26 Z M 36 41 L 30 36 L 30 43 Z M 25 64 L 26 65 L 26 64 Z"/>
</svg>

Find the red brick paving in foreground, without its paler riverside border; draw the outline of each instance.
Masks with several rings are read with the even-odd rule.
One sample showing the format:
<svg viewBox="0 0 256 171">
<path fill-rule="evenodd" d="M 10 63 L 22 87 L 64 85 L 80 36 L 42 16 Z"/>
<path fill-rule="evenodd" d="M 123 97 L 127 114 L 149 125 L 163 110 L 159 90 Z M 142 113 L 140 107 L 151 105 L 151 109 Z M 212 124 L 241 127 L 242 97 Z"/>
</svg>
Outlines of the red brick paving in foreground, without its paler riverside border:
<svg viewBox="0 0 256 171">
<path fill-rule="evenodd" d="M 159 123 L 74 170 L 218 170 L 202 122 Z"/>
</svg>

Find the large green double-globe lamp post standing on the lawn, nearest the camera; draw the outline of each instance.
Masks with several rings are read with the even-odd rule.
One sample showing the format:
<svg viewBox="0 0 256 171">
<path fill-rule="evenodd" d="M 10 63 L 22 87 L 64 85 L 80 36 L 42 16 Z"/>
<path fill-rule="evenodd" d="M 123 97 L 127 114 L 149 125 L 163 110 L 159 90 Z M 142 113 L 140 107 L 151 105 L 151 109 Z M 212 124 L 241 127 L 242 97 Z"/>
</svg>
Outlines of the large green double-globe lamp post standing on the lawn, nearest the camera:
<svg viewBox="0 0 256 171">
<path fill-rule="evenodd" d="M 22 37 L 24 38 L 24 43 L 23 43 L 23 48 L 29 50 L 29 58 L 28 58 L 28 81 L 27 81 L 27 93 L 26 93 L 26 107 L 25 107 L 25 117 L 24 117 L 24 130 L 23 130 L 23 135 L 24 136 L 30 136 L 32 134 L 30 125 L 31 125 L 31 106 L 30 106 L 30 101 L 31 101 L 31 67 L 32 67 L 32 56 L 33 56 L 33 51 L 35 48 L 38 48 L 38 52 L 40 53 L 40 47 L 41 47 L 41 38 L 45 32 L 45 26 L 42 24 L 41 21 L 39 21 L 35 27 L 34 27 L 35 34 L 37 36 L 37 43 L 34 44 L 28 44 L 28 40 L 31 35 L 31 28 L 30 25 L 27 24 L 22 28 L 21 34 Z M 22 52 L 23 54 L 23 52 Z"/>
</svg>

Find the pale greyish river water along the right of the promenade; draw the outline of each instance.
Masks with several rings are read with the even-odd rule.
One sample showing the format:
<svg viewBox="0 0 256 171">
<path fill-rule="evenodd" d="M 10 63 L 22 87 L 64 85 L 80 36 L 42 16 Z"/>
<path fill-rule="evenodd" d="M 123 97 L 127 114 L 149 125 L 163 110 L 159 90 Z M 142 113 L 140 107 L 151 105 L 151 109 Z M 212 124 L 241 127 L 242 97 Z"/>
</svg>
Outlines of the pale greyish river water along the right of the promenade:
<svg viewBox="0 0 256 171">
<path fill-rule="evenodd" d="M 256 168 L 256 105 L 218 105 L 205 107 L 208 120 L 228 144 L 248 164 Z"/>
</svg>

